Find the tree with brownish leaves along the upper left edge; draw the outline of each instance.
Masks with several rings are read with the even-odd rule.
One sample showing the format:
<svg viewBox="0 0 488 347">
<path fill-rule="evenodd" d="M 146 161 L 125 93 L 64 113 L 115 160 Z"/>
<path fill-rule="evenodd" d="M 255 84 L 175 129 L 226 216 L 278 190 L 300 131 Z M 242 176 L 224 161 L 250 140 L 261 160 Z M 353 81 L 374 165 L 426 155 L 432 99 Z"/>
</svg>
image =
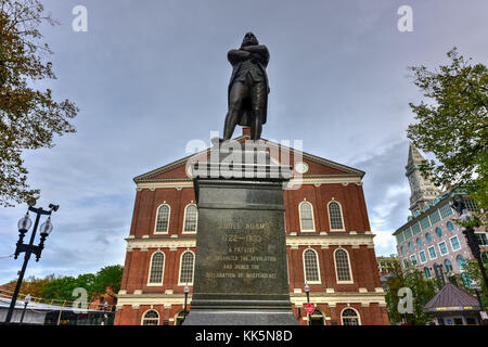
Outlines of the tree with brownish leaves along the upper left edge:
<svg viewBox="0 0 488 347">
<path fill-rule="evenodd" d="M 41 43 L 41 23 L 55 25 L 38 0 L 0 0 L 0 205 L 13 206 L 37 196 L 26 183 L 22 159 L 26 150 L 52 147 L 53 136 L 75 132 L 69 124 L 78 108 L 68 100 L 54 101 L 50 89 L 35 82 L 55 79 L 52 54 Z"/>
</svg>

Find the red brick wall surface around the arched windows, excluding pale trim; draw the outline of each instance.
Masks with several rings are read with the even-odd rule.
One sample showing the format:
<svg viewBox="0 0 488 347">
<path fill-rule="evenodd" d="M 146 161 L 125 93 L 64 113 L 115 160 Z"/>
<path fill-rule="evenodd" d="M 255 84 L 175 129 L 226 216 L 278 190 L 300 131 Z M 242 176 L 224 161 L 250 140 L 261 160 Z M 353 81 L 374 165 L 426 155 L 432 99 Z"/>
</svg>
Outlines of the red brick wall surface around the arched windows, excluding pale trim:
<svg viewBox="0 0 488 347">
<path fill-rule="evenodd" d="M 325 167 L 324 165 L 306 160 L 309 165 L 310 171 L 307 175 L 333 175 L 344 174 L 336 168 Z M 292 158 L 293 163 L 293 158 Z M 160 174 L 159 176 L 171 178 L 187 178 L 184 165 L 172 169 L 170 172 Z M 311 203 L 313 206 L 313 217 L 316 223 L 314 232 L 300 232 L 298 205 L 304 201 Z M 342 206 L 344 229 L 345 231 L 331 231 L 329 223 L 328 203 L 332 200 L 338 202 Z M 175 188 L 155 189 L 153 191 L 143 189 L 137 192 L 134 209 L 132 216 L 132 223 L 130 235 L 133 237 L 160 237 L 159 234 L 154 234 L 156 210 L 158 206 L 166 203 L 170 206 L 169 233 L 168 235 L 177 234 L 179 237 L 192 236 L 182 234 L 184 207 L 190 203 L 195 203 L 194 191 L 191 188 L 183 188 L 177 190 Z M 368 211 L 364 202 L 362 187 L 349 183 L 334 183 L 334 184 L 307 184 L 299 190 L 286 190 L 284 192 L 284 203 L 286 207 L 285 222 L 286 231 L 288 233 L 296 232 L 298 235 L 319 234 L 320 232 L 328 232 L 330 234 L 349 233 L 356 231 L 358 234 L 370 231 L 370 223 L 368 219 Z M 304 291 L 304 262 L 303 253 L 307 245 L 291 248 L 287 246 L 288 257 L 288 274 L 290 274 L 290 291 L 300 288 Z M 380 277 L 377 271 L 376 258 L 373 248 L 364 245 L 352 247 L 351 245 L 344 245 L 343 248 L 349 254 L 350 267 L 352 271 L 351 284 L 338 284 L 336 281 L 334 250 L 338 246 L 330 246 L 329 248 L 321 248 L 320 246 L 312 246 L 318 253 L 320 266 L 320 284 L 310 284 L 311 293 L 324 293 L 325 288 L 333 288 L 337 292 L 355 292 L 359 288 L 367 288 L 368 292 L 374 292 L 375 287 L 381 287 Z M 127 294 L 132 294 L 136 290 L 142 290 L 144 294 L 160 293 L 171 290 L 174 294 L 183 294 L 183 286 L 178 285 L 178 275 L 180 268 L 180 256 L 187 248 L 169 249 L 160 248 L 165 254 L 165 272 L 162 286 L 147 286 L 147 275 L 150 259 L 157 249 L 149 248 L 141 250 L 134 248 L 127 252 L 124 277 L 121 282 L 121 290 L 127 291 Z M 194 252 L 194 248 L 192 249 Z M 192 291 L 192 287 L 191 287 Z M 341 324 L 339 313 L 346 304 L 336 307 L 329 307 L 326 304 L 319 304 L 319 309 L 330 314 L 331 320 L 337 321 Z M 387 324 L 387 314 L 384 307 L 378 304 L 370 304 L 369 307 L 361 307 L 360 304 L 351 304 L 351 307 L 357 309 L 361 316 L 362 324 Z M 132 309 L 131 306 L 125 305 L 116 313 L 116 324 L 140 324 L 142 313 L 145 312 L 150 306 L 140 306 L 139 309 Z M 153 309 L 159 312 L 163 324 L 165 319 L 172 319 L 179 311 L 182 310 L 181 305 L 172 305 L 171 308 L 164 308 L 160 305 L 154 305 Z M 294 309 L 295 314 L 298 310 Z M 301 310 L 301 316 L 306 316 L 305 310 Z M 306 321 L 301 321 L 306 323 Z M 171 322 L 172 324 L 172 322 Z"/>
</svg>

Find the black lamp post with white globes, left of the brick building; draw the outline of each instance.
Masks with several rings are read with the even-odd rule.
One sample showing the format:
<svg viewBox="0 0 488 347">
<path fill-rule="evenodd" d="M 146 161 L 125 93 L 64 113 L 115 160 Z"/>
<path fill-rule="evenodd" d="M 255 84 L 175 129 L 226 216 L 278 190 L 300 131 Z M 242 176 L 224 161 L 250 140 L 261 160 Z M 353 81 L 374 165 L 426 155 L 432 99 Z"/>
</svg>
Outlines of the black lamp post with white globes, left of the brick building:
<svg viewBox="0 0 488 347">
<path fill-rule="evenodd" d="M 52 231 L 51 214 L 52 214 L 52 211 L 56 211 L 60 208 L 60 205 L 49 204 L 49 208 L 50 208 L 49 210 L 44 210 L 44 209 L 42 209 L 42 207 L 36 208 L 34 206 L 29 206 L 25 216 L 17 223 L 18 241 L 16 243 L 14 258 L 15 259 L 18 258 L 18 256 L 23 252 L 25 252 L 25 256 L 24 256 L 24 264 L 18 273 L 17 284 L 16 284 L 15 291 L 12 295 L 12 300 L 10 301 L 9 312 L 7 313 L 4 324 L 10 324 L 10 321 L 12 320 L 12 314 L 15 309 L 15 304 L 17 301 L 18 292 L 21 291 L 22 281 L 24 280 L 25 270 L 27 268 L 27 262 L 30 259 L 30 255 L 35 254 L 36 261 L 39 261 L 42 249 L 44 248 L 44 241 Z M 35 213 L 37 216 L 36 216 L 36 221 L 34 222 L 34 229 L 33 229 L 33 234 L 30 235 L 30 242 L 28 244 L 25 244 L 24 243 L 25 234 L 29 230 L 30 226 L 33 224 L 33 221 L 29 218 L 29 211 Z M 40 226 L 40 236 L 41 236 L 40 243 L 39 243 L 39 245 L 35 245 L 34 241 L 36 239 L 37 227 L 39 226 L 39 220 L 40 220 L 41 215 L 49 216 L 49 217 Z"/>
</svg>

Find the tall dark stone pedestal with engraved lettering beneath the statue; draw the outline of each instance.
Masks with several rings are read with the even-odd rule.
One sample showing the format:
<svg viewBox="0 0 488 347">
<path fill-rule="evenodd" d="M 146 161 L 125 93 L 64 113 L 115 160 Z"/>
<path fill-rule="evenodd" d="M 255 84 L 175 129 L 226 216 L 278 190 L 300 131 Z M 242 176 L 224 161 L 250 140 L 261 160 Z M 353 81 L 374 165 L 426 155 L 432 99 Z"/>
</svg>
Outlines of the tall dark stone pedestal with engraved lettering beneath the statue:
<svg viewBox="0 0 488 347">
<path fill-rule="evenodd" d="M 273 164 L 262 147 L 236 151 L 241 164 L 219 153 L 193 166 L 198 232 L 183 324 L 296 325 L 283 202 L 290 167 Z"/>
</svg>

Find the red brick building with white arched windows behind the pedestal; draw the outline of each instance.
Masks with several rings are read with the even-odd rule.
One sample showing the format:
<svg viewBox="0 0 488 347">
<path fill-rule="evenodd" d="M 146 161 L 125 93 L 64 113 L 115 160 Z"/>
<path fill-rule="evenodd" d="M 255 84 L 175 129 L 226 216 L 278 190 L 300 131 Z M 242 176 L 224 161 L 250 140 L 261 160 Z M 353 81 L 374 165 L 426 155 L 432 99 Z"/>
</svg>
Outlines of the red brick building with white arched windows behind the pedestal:
<svg viewBox="0 0 488 347">
<path fill-rule="evenodd" d="M 244 132 L 236 140 L 248 138 Z M 312 324 L 389 324 L 362 191 L 364 172 L 272 146 L 290 154 L 290 163 L 295 163 L 294 155 L 301 157 L 293 172 L 303 175 L 303 184 L 284 191 L 295 317 L 308 323 L 307 282 L 310 303 L 317 307 Z M 207 155 L 208 150 L 201 153 Z M 197 208 L 188 159 L 134 178 L 136 203 L 115 324 L 180 324 L 187 283 L 191 309 Z"/>
</svg>

